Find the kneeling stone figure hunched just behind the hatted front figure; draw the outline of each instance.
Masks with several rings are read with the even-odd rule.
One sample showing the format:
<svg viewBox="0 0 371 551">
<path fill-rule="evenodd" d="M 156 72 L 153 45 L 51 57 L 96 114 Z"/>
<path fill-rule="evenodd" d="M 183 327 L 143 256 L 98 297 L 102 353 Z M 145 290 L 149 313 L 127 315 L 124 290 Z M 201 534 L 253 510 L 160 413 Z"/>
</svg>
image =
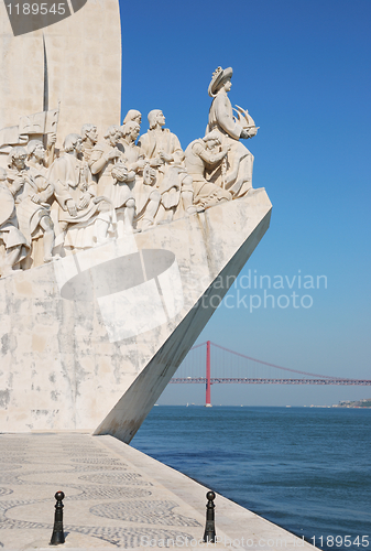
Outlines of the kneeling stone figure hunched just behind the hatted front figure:
<svg viewBox="0 0 371 551">
<path fill-rule="evenodd" d="M 190 142 L 185 150 L 185 165 L 187 173 L 193 177 L 194 204 L 203 209 L 232 198 L 227 190 L 222 190 L 205 179 L 206 169 L 215 169 L 229 151 L 227 145 L 221 151 L 215 151 L 218 145 L 220 145 L 219 133 L 211 131 L 205 138 Z"/>
</svg>

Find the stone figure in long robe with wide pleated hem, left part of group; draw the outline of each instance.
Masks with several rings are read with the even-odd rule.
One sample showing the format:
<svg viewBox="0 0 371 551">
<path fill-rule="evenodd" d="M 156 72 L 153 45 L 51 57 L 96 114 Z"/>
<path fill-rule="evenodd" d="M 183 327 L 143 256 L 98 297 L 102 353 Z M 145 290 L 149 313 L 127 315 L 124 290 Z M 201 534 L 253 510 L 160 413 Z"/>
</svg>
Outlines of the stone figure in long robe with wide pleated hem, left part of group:
<svg viewBox="0 0 371 551">
<path fill-rule="evenodd" d="M 86 249 L 100 245 L 114 231 L 114 213 L 109 199 L 97 196 L 88 164 L 78 159 L 83 150 L 79 134 L 68 134 L 65 154 L 51 166 L 50 180 L 59 204 L 59 224 L 66 231 L 65 248 Z"/>
</svg>

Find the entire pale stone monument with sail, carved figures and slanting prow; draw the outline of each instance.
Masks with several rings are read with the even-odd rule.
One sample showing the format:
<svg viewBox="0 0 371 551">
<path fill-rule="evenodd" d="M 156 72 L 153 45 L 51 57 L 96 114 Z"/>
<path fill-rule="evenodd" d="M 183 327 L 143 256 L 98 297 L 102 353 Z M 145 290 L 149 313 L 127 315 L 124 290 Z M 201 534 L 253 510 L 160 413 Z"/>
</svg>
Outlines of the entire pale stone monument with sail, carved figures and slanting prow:
<svg viewBox="0 0 371 551">
<path fill-rule="evenodd" d="M 258 128 L 218 67 L 204 138 L 183 150 L 161 109 L 139 138 L 114 0 L 23 34 L 0 6 L 0 430 L 130 442 L 269 227 Z"/>
</svg>

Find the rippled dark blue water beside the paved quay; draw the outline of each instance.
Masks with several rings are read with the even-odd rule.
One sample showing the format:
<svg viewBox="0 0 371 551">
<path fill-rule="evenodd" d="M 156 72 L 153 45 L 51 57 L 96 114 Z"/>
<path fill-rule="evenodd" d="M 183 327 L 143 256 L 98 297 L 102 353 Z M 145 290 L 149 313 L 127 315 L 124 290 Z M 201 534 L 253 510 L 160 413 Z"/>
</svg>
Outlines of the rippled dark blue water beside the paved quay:
<svg viewBox="0 0 371 551">
<path fill-rule="evenodd" d="M 317 547 L 371 550 L 371 410 L 159 406 L 132 445 Z"/>
</svg>

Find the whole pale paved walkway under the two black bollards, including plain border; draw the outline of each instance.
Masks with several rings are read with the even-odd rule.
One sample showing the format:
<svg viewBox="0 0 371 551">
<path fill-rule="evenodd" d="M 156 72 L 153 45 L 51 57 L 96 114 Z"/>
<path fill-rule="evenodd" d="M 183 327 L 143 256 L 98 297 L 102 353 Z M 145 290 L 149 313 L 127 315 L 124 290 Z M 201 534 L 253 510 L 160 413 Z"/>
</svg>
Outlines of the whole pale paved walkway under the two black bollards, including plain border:
<svg viewBox="0 0 371 551">
<path fill-rule="evenodd" d="M 206 549 L 205 487 L 111 436 L 80 433 L 0 435 L 0 548 L 53 549 L 58 490 L 58 549 Z M 218 549 L 307 547 L 221 496 L 216 506 Z"/>
</svg>

